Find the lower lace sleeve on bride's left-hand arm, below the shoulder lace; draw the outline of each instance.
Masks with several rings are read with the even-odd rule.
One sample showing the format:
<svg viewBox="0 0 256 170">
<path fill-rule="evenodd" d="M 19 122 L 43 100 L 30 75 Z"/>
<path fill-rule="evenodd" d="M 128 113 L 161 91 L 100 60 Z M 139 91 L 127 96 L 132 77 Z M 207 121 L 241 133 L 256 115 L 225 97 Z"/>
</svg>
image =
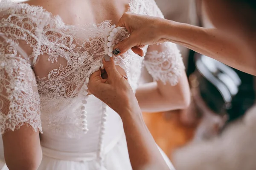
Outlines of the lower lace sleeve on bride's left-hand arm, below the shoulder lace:
<svg viewBox="0 0 256 170">
<path fill-rule="evenodd" d="M 40 102 L 35 75 L 12 41 L 0 36 L 0 132 L 26 124 L 41 131 Z"/>
</svg>

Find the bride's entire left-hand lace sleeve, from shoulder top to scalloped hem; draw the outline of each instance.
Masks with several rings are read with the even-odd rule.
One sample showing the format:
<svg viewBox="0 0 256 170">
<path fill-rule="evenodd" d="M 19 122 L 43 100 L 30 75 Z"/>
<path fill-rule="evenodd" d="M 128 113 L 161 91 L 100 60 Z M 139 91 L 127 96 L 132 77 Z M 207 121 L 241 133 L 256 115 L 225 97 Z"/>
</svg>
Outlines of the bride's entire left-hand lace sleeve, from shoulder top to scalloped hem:
<svg viewBox="0 0 256 170">
<path fill-rule="evenodd" d="M 0 133 L 23 125 L 41 130 L 40 100 L 32 66 L 47 17 L 0 2 Z"/>
</svg>

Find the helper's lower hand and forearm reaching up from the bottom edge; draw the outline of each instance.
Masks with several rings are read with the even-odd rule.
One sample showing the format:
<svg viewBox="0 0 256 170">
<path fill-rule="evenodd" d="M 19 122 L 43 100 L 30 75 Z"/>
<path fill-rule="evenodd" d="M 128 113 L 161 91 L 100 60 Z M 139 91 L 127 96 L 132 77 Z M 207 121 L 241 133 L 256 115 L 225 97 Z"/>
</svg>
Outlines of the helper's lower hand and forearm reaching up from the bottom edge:
<svg viewBox="0 0 256 170">
<path fill-rule="evenodd" d="M 103 64 L 108 78 L 101 77 L 101 70 L 94 72 L 90 76 L 89 91 L 122 118 L 132 169 L 169 170 L 143 121 L 138 101 L 126 77 L 117 71 L 113 58 L 106 56 Z"/>
</svg>

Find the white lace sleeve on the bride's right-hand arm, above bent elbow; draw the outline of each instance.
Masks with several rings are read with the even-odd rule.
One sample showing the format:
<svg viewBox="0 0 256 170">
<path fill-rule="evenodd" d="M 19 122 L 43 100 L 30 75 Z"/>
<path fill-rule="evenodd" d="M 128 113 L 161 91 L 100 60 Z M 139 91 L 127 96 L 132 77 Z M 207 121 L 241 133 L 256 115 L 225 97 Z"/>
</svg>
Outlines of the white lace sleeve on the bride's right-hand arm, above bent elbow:
<svg viewBox="0 0 256 170">
<path fill-rule="evenodd" d="M 162 43 L 148 47 L 144 64 L 154 81 L 169 82 L 175 86 L 184 69 L 180 51 L 174 43 Z"/>
</svg>

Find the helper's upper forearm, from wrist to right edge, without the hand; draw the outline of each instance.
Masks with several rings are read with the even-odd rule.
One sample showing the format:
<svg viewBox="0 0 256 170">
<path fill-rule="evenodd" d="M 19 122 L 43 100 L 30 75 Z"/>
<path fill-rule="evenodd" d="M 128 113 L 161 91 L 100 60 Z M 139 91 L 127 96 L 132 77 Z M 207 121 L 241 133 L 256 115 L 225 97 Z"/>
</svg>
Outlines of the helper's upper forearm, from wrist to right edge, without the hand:
<svg viewBox="0 0 256 170">
<path fill-rule="evenodd" d="M 251 43 L 248 43 L 248 46 L 241 43 L 241 40 L 247 40 L 247 37 L 240 36 L 238 40 L 218 29 L 201 28 L 169 20 L 162 24 L 161 32 L 166 41 L 186 46 L 243 72 L 256 75 L 256 57 L 248 48 Z"/>
</svg>

